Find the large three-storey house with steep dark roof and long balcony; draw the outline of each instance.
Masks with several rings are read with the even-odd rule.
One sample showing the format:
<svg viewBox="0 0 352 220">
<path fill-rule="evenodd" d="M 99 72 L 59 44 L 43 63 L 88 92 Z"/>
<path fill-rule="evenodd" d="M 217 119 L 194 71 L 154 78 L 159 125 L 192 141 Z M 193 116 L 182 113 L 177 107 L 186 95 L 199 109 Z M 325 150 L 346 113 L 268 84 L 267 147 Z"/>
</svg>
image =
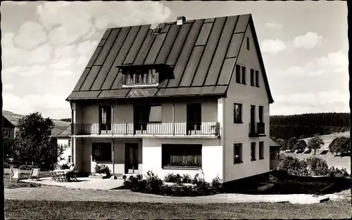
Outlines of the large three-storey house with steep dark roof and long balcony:
<svg viewBox="0 0 352 220">
<path fill-rule="evenodd" d="M 273 102 L 251 15 L 106 30 L 75 89 L 73 162 L 114 174 L 269 172 Z"/>
</svg>

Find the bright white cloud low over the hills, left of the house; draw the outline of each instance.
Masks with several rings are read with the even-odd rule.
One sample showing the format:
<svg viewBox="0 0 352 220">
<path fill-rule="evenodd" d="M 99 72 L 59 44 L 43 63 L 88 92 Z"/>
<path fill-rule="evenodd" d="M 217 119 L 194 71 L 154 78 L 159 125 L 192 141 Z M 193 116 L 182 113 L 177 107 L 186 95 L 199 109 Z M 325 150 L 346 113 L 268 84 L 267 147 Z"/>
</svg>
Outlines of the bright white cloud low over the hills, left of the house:
<svg viewBox="0 0 352 220">
<path fill-rule="evenodd" d="M 65 96 L 58 96 L 54 93 L 45 95 L 27 94 L 25 96 L 16 96 L 13 93 L 3 93 L 4 109 L 27 115 L 31 112 L 42 112 L 51 118 L 67 117 L 70 113 L 70 104 L 65 101 Z M 60 111 L 61 115 L 53 115 L 52 112 Z"/>
</svg>

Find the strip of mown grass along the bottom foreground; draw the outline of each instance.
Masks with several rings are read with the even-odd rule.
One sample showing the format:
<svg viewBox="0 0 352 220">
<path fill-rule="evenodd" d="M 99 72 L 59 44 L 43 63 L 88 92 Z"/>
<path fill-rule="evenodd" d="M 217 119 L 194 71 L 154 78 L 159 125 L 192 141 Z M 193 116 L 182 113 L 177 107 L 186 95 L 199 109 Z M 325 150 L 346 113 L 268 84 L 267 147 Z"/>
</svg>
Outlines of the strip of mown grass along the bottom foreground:
<svg viewBox="0 0 352 220">
<path fill-rule="evenodd" d="M 6 219 L 344 219 L 351 201 L 290 203 L 170 204 L 5 200 Z"/>
</svg>

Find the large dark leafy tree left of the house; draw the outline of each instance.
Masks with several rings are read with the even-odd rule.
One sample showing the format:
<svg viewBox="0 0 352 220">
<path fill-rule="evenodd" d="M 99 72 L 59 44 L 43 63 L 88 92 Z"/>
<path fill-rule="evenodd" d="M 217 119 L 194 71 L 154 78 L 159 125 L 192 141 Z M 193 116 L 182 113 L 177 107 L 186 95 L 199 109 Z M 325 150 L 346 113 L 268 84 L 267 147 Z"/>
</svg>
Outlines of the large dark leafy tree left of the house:
<svg viewBox="0 0 352 220">
<path fill-rule="evenodd" d="M 15 159 L 51 165 L 53 157 L 57 155 L 54 152 L 58 150 L 57 141 L 55 144 L 50 138 L 53 128 L 53 120 L 43 118 L 39 112 L 20 118 L 11 150 Z"/>
</svg>

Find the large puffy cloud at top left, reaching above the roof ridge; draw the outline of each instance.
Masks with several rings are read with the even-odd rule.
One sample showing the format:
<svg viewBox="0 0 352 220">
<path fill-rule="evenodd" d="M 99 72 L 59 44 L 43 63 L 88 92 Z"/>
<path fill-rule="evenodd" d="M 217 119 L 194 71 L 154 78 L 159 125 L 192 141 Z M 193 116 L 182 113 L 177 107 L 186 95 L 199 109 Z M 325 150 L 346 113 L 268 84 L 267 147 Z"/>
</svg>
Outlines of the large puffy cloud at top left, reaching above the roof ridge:
<svg viewBox="0 0 352 220">
<path fill-rule="evenodd" d="M 106 27 L 162 22 L 171 11 L 156 1 L 99 1 L 45 2 L 37 6 L 37 14 L 44 27 L 50 30 L 53 45 L 72 44 L 78 39 L 88 39 L 96 30 Z"/>
</svg>

